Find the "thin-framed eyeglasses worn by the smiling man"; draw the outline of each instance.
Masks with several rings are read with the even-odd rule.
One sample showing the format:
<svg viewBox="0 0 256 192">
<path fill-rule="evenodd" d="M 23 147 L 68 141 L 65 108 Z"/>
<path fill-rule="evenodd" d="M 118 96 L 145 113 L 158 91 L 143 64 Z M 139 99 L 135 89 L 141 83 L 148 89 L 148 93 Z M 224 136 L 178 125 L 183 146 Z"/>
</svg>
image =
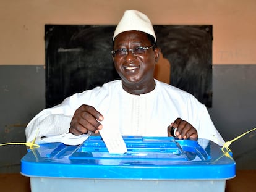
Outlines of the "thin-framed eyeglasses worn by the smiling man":
<svg viewBox="0 0 256 192">
<path fill-rule="evenodd" d="M 111 51 L 111 54 L 113 55 L 113 57 L 122 57 L 122 56 L 125 56 L 128 54 L 128 51 L 132 51 L 132 54 L 134 56 L 139 56 L 139 55 L 142 55 L 142 54 L 145 54 L 145 52 L 148 50 L 148 49 L 151 49 L 153 48 L 155 45 L 153 46 L 150 46 L 150 47 L 142 47 L 142 46 L 139 46 L 139 47 L 136 47 L 136 48 L 133 48 L 133 49 L 116 49 L 116 50 L 113 50 Z"/>
</svg>

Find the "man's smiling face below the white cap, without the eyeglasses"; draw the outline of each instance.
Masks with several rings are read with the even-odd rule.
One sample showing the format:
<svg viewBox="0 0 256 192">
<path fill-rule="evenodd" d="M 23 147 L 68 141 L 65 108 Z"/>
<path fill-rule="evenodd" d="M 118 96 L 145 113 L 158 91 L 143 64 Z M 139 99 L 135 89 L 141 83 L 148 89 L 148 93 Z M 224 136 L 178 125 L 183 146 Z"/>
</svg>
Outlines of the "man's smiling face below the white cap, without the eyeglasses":
<svg viewBox="0 0 256 192">
<path fill-rule="evenodd" d="M 113 49 L 134 49 L 140 46 L 152 46 L 147 34 L 140 31 L 126 31 L 116 36 Z M 154 84 L 153 75 L 158 56 L 157 48 L 155 50 L 149 48 L 142 54 L 134 55 L 132 51 L 128 51 L 128 54 L 123 56 L 113 56 L 114 65 L 122 78 L 123 86 L 128 89 L 147 90 L 147 86 Z M 128 92 L 131 91 L 128 90 Z"/>
</svg>

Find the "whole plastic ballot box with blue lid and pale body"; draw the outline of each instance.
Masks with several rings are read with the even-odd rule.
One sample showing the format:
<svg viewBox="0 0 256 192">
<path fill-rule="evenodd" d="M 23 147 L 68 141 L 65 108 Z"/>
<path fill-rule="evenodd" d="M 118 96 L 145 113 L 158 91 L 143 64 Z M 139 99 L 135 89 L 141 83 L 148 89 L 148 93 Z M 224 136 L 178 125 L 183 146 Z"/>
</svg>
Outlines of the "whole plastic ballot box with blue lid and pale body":
<svg viewBox="0 0 256 192">
<path fill-rule="evenodd" d="M 35 191 L 224 191 L 235 177 L 231 154 L 204 139 L 124 136 L 127 152 L 109 154 L 100 136 L 80 146 L 40 144 L 21 160 Z"/>
</svg>

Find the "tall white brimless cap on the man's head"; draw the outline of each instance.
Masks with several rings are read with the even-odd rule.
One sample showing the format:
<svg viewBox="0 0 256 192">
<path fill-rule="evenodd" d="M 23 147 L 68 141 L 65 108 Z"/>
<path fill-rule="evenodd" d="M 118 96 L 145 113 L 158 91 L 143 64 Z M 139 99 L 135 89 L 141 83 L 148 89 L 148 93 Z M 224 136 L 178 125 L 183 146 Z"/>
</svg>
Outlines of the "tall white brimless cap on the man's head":
<svg viewBox="0 0 256 192">
<path fill-rule="evenodd" d="M 124 12 L 114 31 L 113 40 L 119 33 L 124 31 L 142 31 L 152 35 L 156 41 L 155 31 L 150 19 L 148 19 L 147 15 L 137 10 L 126 10 Z"/>
</svg>

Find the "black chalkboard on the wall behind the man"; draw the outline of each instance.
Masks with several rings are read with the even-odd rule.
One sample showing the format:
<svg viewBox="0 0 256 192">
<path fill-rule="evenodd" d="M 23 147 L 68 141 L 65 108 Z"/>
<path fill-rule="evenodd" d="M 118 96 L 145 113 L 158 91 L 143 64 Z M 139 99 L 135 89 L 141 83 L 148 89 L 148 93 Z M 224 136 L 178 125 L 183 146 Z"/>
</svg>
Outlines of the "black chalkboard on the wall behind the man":
<svg viewBox="0 0 256 192">
<path fill-rule="evenodd" d="M 45 25 L 46 107 L 119 78 L 111 58 L 114 25 Z M 212 99 L 212 26 L 154 25 L 171 64 L 170 84 L 207 107 Z"/>
</svg>

